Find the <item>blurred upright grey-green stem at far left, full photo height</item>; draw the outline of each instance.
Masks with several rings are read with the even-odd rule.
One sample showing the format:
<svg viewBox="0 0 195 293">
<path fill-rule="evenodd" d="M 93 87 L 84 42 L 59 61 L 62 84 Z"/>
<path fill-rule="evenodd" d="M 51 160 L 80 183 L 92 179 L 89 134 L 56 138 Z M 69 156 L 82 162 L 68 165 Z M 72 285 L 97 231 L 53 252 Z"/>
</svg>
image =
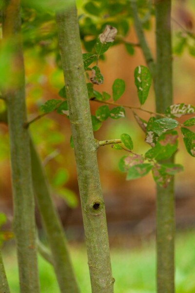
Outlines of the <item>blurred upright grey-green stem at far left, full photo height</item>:
<svg viewBox="0 0 195 293">
<path fill-rule="evenodd" d="M 20 0 L 4 1 L 3 42 L 12 49 L 11 82 L 5 90 L 11 152 L 13 229 L 17 241 L 20 292 L 39 293 L 34 198 L 25 107 L 25 77 L 20 34 Z M 6 82 L 6 81 L 5 81 Z"/>
</svg>

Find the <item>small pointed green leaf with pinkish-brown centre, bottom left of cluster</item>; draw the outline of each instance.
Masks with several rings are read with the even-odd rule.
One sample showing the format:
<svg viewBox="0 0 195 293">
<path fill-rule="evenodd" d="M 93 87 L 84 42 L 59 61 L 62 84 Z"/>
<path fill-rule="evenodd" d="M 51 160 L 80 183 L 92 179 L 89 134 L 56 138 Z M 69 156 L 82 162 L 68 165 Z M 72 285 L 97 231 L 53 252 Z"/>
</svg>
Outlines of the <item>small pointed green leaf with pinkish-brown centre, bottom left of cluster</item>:
<svg viewBox="0 0 195 293">
<path fill-rule="evenodd" d="M 135 165 L 129 169 L 126 179 L 133 180 L 133 179 L 138 179 L 140 177 L 143 177 L 150 172 L 152 167 L 153 167 L 152 164 Z"/>
</svg>

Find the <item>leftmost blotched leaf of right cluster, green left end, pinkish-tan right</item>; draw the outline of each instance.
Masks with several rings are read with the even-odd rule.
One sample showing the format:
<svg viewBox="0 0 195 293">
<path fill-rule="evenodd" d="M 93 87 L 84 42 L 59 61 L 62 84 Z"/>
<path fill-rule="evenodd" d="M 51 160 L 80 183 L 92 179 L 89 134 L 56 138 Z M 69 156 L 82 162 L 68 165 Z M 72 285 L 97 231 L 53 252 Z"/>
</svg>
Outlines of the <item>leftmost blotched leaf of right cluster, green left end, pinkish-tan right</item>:
<svg viewBox="0 0 195 293">
<path fill-rule="evenodd" d="M 130 153 L 128 156 L 120 158 L 118 168 L 121 172 L 127 172 L 130 167 L 143 164 L 144 158 L 140 155 Z"/>
</svg>

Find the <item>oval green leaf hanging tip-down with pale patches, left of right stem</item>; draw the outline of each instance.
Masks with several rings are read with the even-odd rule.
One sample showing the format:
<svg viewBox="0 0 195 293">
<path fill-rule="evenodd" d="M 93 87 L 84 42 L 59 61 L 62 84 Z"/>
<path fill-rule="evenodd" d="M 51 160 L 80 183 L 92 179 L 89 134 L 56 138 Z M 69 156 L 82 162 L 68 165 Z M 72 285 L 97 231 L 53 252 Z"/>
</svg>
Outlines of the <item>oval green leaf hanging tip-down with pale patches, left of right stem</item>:
<svg viewBox="0 0 195 293">
<path fill-rule="evenodd" d="M 143 105 L 148 97 L 149 89 L 152 83 L 152 77 L 147 67 L 139 65 L 134 73 L 135 84 L 137 86 L 137 95 L 139 102 Z"/>
</svg>

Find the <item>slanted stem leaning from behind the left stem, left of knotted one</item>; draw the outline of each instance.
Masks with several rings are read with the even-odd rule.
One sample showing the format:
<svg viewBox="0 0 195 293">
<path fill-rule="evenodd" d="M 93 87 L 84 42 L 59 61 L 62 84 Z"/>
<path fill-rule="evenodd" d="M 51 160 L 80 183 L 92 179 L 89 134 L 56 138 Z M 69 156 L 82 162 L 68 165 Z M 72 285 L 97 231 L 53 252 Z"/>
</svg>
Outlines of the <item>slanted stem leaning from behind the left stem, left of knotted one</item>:
<svg viewBox="0 0 195 293">
<path fill-rule="evenodd" d="M 33 186 L 39 212 L 51 248 L 54 269 L 61 293 L 79 293 L 63 227 L 52 201 L 45 172 L 35 146 L 30 140 Z"/>
</svg>

